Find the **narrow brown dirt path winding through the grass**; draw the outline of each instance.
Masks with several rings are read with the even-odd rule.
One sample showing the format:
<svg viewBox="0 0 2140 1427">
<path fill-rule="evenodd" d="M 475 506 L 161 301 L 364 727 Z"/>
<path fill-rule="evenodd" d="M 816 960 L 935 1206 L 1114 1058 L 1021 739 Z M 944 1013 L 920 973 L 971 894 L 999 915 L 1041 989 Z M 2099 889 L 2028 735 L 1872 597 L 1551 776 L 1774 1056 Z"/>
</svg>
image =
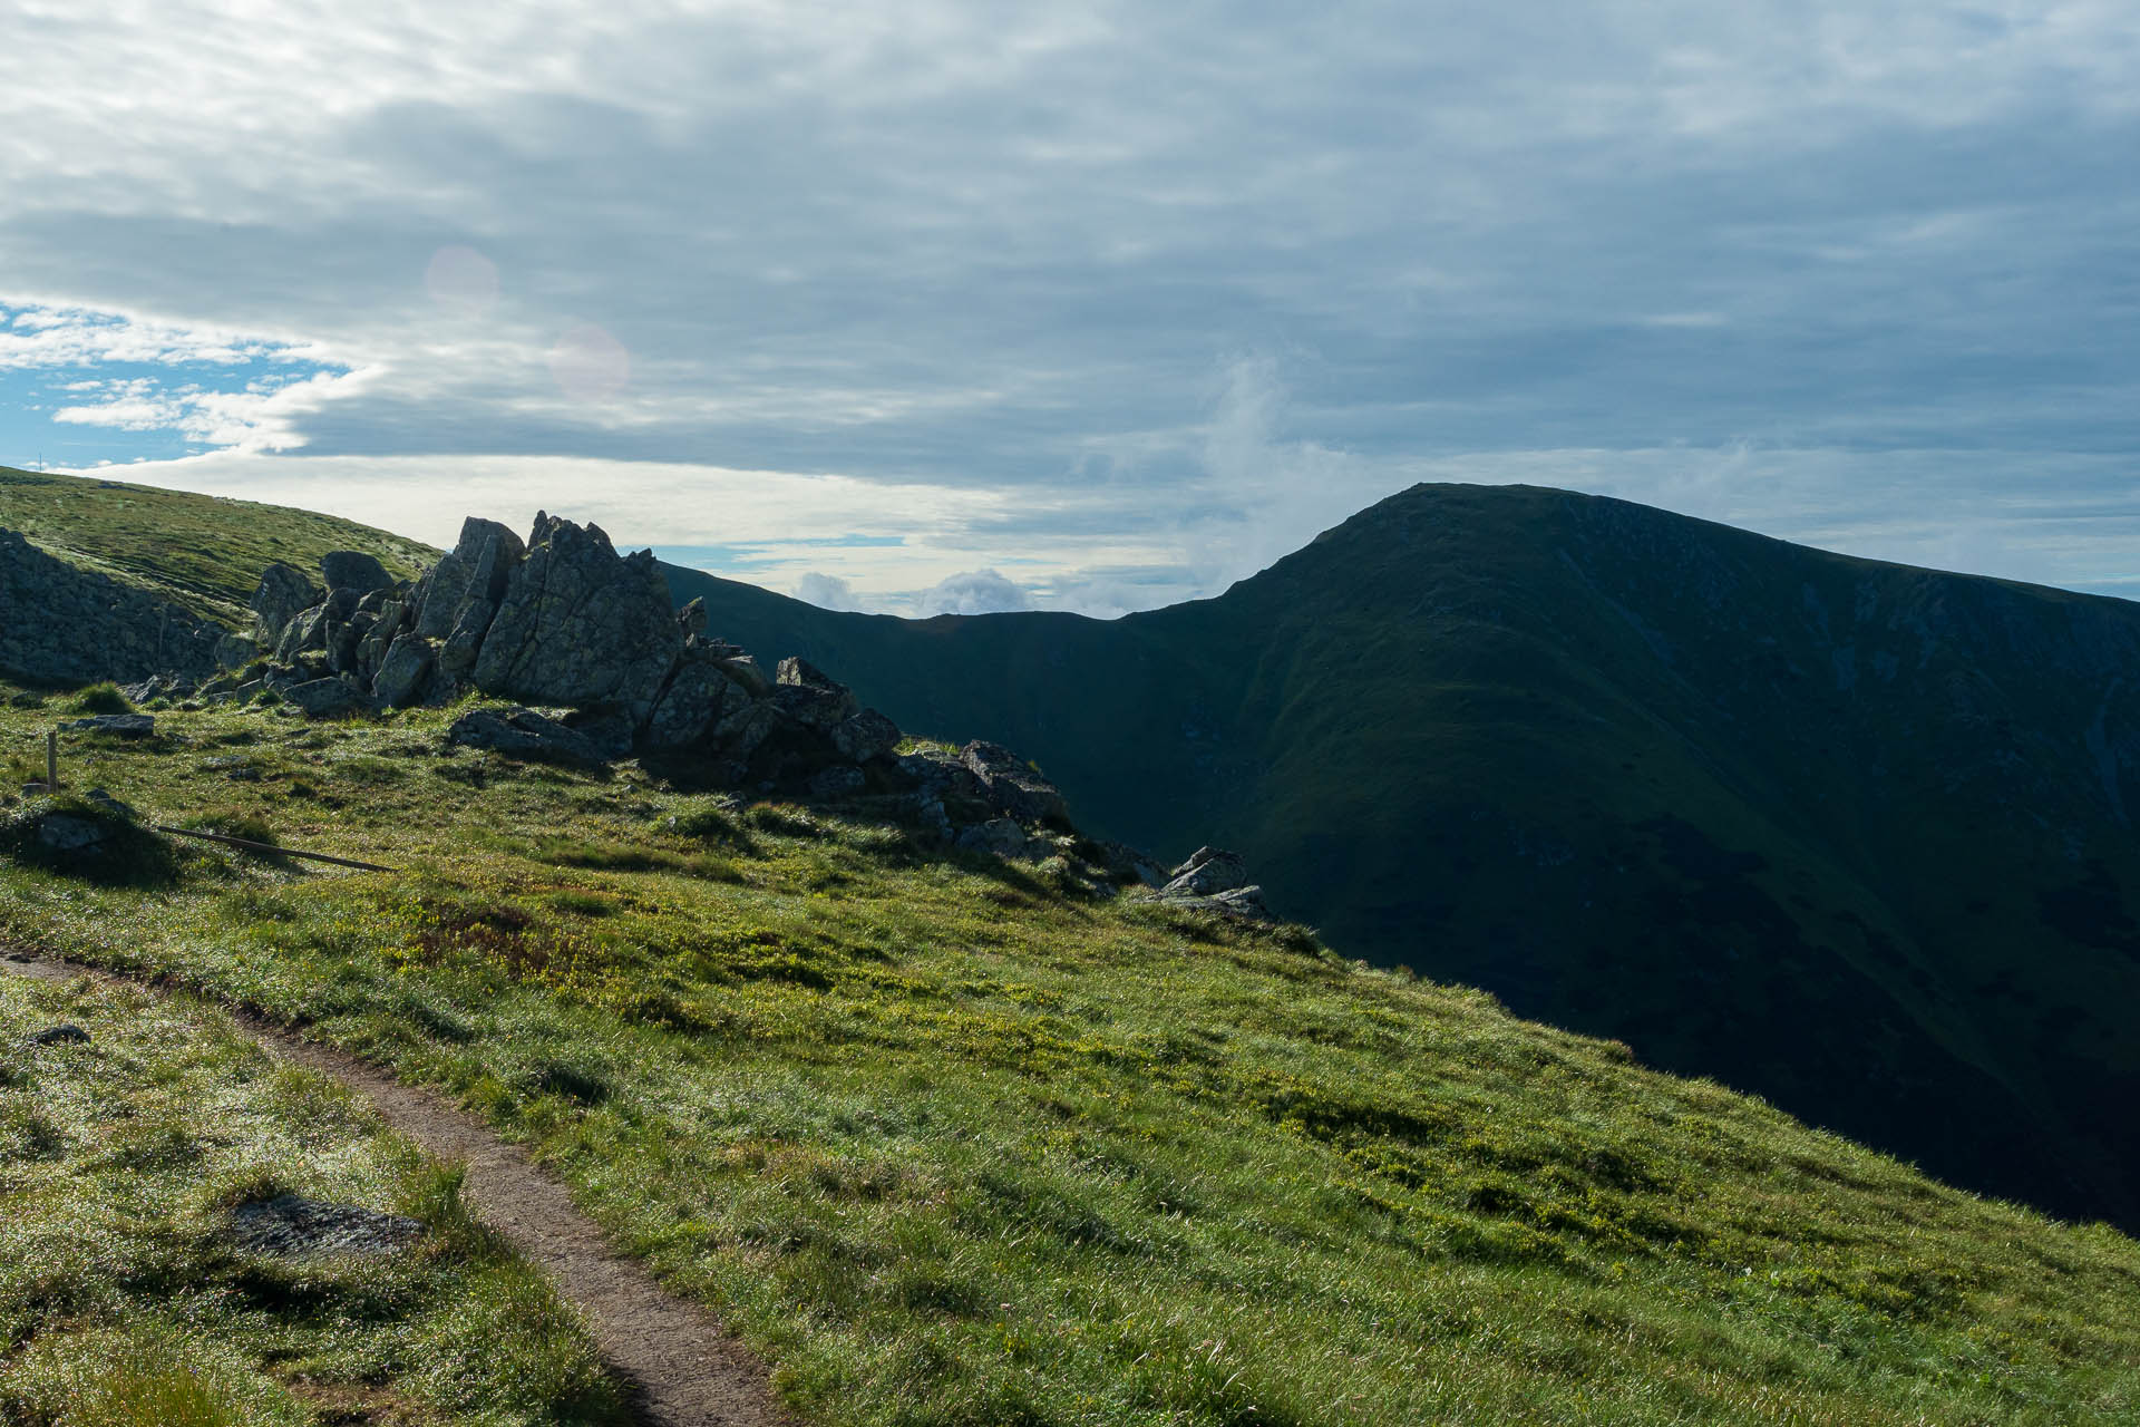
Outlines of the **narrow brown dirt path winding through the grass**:
<svg viewBox="0 0 2140 1427">
<path fill-rule="evenodd" d="M 77 976 L 124 980 L 94 967 L 0 948 L 0 971 L 47 982 Z M 133 982 L 131 982 L 133 984 Z M 586 1314 L 601 1356 L 638 1393 L 640 1416 L 657 1427 L 792 1427 L 773 1399 L 764 1365 L 704 1309 L 676 1299 L 642 1267 L 621 1258 L 571 1196 L 499 1140 L 467 1110 L 428 1089 L 402 1085 L 377 1065 L 297 1040 L 235 1012 L 270 1055 L 319 1070 L 364 1095 L 396 1130 L 445 1160 L 469 1166 L 467 1198 L 484 1224 L 539 1264 L 559 1292 Z"/>
</svg>

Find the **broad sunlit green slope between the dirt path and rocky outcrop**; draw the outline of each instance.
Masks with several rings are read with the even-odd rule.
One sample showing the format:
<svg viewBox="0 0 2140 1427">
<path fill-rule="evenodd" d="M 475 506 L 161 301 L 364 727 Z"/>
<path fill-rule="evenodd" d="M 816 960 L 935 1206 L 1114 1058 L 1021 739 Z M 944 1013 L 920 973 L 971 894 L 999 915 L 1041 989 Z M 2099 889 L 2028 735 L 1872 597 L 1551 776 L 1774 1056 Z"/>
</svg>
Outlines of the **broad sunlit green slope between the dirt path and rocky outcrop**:
<svg viewBox="0 0 2140 1427">
<path fill-rule="evenodd" d="M 0 710 L 0 755 L 45 723 Z M 811 1421 L 2140 1412 L 2140 1247 L 2112 1230 L 1297 933 L 631 770 L 447 757 L 441 727 L 210 710 L 77 742 L 75 779 L 154 813 L 404 873 L 0 864 L 0 929 L 454 1087 Z"/>
</svg>

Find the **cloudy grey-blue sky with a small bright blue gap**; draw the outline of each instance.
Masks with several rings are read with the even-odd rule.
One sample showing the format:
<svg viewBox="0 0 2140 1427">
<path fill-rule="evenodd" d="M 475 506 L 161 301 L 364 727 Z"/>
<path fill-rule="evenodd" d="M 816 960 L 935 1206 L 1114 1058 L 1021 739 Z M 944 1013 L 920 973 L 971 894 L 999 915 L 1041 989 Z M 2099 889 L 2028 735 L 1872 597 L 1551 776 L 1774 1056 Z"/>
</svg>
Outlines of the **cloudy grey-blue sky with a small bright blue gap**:
<svg viewBox="0 0 2140 1427">
<path fill-rule="evenodd" d="M 2140 597 L 2129 0 L 11 0 L 0 64 L 0 464 L 899 614 L 1421 479 Z"/>
</svg>

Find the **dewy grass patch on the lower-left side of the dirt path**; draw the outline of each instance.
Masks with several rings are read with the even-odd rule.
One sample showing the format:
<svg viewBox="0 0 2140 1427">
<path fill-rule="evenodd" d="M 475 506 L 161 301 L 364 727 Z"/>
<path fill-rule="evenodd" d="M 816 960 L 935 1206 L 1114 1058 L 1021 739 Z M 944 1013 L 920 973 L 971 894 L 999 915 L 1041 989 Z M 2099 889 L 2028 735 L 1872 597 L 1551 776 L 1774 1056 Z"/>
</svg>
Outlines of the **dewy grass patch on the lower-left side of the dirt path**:
<svg viewBox="0 0 2140 1427">
<path fill-rule="evenodd" d="M 88 1044 L 28 1046 L 73 1023 Z M 578 1322 L 428 1162 L 214 1010 L 0 976 L 0 1423 L 623 1423 Z M 396 1256 L 238 1249 L 278 1192 L 407 1213 Z"/>
</svg>

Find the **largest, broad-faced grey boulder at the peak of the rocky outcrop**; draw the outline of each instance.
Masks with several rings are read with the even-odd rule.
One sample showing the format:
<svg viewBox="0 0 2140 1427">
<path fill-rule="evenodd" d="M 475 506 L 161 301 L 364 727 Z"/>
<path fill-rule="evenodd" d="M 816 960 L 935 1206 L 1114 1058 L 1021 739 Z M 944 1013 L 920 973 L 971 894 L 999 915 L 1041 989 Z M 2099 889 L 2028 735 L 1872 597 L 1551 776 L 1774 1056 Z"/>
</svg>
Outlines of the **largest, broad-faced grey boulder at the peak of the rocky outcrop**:
<svg viewBox="0 0 2140 1427">
<path fill-rule="evenodd" d="M 539 704 L 614 704 L 644 721 L 678 653 L 683 631 L 651 550 L 618 556 L 601 526 L 537 516 L 471 682 Z"/>
</svg>

